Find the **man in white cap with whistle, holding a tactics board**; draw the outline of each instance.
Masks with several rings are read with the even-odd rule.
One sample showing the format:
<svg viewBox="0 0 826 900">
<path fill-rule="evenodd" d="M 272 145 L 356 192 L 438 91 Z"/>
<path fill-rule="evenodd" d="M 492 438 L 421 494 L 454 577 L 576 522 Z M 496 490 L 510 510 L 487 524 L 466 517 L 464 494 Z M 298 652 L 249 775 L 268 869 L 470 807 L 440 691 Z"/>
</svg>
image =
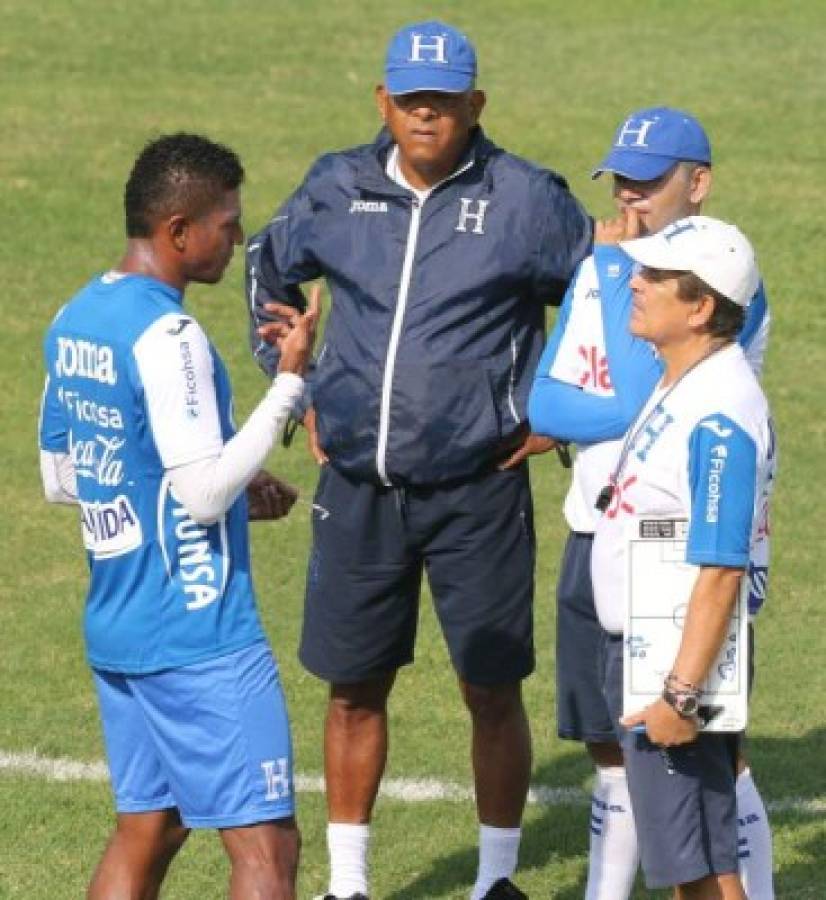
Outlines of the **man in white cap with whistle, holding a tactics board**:
<svg viewBox="0 0 826 900">
<path fill-rule="evenodd" d="M 698 574 L 679 649 L 662 697 L 622 719 L 619 737 L 648 887 L 678 887 L 691 900 L 744 900 L 738 735 L 700 732 L 697 711 L 741 579 L 767 566 L 776 445 L 768 404 L 737 343 L 759 276 L 746 238 L 703 216 L 621 247 L 641 266 L 631 280 L 631 333 L 654 345 L 664 374 L 601 492 L 591 566 L 606 632 L 604 692 L 617 722 L 629 516 L 685 519 L 685 561 Z"/>
</svg>

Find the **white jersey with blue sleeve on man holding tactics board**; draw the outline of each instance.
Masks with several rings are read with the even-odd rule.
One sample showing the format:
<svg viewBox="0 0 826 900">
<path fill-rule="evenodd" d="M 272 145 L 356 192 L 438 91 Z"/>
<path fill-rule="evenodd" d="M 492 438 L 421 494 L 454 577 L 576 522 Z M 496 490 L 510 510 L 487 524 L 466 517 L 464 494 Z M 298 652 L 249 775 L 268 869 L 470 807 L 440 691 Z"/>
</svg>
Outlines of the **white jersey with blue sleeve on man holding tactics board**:
<svg viewBox="0 0 826 900">
<path fill-rule="evenodd" d="M 623 628 L 629 516 L 687 519 L 686 562 L 744 569 L 756 614 L 768 576 L 777 447 L 768 403 L 742 348 L 712 354 L 672 390 L 658 386 L 628 435 L 591 557 L 603 628 Z"/>
</svg>

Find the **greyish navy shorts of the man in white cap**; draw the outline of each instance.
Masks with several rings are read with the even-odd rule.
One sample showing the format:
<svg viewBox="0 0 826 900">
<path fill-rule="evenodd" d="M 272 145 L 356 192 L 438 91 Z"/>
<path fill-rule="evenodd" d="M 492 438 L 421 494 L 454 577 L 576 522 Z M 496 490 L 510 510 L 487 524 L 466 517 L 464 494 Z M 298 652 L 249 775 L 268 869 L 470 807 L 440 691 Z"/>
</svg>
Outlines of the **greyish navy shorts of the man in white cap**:
<svg viewBox="0 0 826 900">
<path fill-rule="evenodd" d="M 737 872 L 738 735 L 701 734 L 665 751 L 622 728 L 622 640 L 604 638 L 605 696 L 625 757 L 646 886 Z"/>
</svg>

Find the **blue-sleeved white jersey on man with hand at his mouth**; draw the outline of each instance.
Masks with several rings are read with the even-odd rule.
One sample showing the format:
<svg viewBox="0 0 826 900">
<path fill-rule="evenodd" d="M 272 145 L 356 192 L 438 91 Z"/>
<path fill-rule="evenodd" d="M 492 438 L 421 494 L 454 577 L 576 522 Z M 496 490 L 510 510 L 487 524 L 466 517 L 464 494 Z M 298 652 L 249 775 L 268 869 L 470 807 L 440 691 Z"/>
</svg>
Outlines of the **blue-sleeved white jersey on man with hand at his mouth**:
<svg viewBox="0 0 826 900">
<path fill-rule="evenodd" d="M 651 344 L 628 330 L 634 269 L 619 247 L 594 248 L 568 288 L 531 389 L 533 431 L 577 445 L 564 507 L 572 531 L 594 530 L 594 504 L 619 454 L 618 439 L 662 374 Z M 738 337 L 757 375 L 769 322 L 761 284 Z"/>
</svg>

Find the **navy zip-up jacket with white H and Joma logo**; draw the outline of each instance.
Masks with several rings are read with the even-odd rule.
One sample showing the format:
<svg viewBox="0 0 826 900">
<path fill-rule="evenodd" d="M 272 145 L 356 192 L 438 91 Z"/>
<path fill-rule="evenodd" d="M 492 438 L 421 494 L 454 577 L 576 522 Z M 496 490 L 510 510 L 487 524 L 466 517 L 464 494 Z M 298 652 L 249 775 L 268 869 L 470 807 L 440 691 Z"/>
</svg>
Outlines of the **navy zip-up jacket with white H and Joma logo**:
<svg viewBox="0 0 826 900">
<path fill-rule="evenodd" d="M 310 379 L 321 446 L 379 484 L 490 468 L 526 425 L 544 307 L 561 302 L 593 224 L 563 178 L 476 129 L 424 204 L 387 177 L 393 146 L 322 156 L 247 248 L 253 352 L 270 300 L 304 308 L 324 277 L 330 315 Z"/>
</svg>

